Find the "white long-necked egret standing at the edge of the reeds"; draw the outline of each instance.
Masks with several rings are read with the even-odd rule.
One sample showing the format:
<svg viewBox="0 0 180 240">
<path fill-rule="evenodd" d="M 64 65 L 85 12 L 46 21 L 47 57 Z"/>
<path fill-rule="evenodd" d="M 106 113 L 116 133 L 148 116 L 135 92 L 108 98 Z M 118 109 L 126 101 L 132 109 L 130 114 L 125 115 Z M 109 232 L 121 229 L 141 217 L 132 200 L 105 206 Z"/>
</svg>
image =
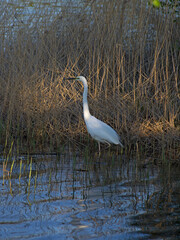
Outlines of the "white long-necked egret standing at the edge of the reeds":
<svg viewBox="0 0 180 240">
<path fill-rule="evenodd" d="M 101 120 L 92 116 L 89 112 L 88 101 L 87 101 L 87 93 L 88 93 L 88 84 L 87 80 L 83 76 L 78 76 L 76 78 L 67 78 L 67 80 L 77 80 L 83 83 L 84 92 L 83 92 L 83 115 L 86 123 L 87 130 L 92 138 L 98 141 L 99 145 L 99 155 L 100 155 L 100 142 L 107 143 L 110 145 L 111 143 L 120 145 L 123 147 L 121 143 L 120 136 L 117 132 L 112 129 L 109 125 L 102 122 Z"/>
</svg>

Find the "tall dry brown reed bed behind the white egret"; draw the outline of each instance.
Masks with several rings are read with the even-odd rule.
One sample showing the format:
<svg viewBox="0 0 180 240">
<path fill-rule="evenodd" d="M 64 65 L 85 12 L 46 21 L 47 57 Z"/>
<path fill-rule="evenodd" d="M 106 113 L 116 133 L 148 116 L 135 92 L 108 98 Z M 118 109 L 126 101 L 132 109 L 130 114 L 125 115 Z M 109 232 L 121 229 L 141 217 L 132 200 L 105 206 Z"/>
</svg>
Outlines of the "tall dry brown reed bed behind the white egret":
<svg viewBox="0 0 180 240">
<path fill-rule="evenodd" d="M 12 142 L 16 151 L 87 144 L 83 88 L 63 80 L 83 75 L 91 114 L 116 129 L 126 147 L 177 158 L 180 27 L 171 10 L 139 0 L 84 1 L 77 8 L 67 1 L 58 14 L 30 15 L 33 24 L 19 17 L 16 28 L 5 25 L 6 12 L 0 28 L 1 148 Z"/>
</svg>

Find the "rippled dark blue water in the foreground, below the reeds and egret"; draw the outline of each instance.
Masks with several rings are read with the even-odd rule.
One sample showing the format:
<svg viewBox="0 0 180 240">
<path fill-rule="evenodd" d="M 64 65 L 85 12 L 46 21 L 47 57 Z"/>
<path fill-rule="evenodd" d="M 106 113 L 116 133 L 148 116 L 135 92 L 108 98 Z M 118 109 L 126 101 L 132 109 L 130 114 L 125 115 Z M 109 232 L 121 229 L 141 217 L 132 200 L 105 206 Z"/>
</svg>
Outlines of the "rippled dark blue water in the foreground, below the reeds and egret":
<svg viewBox="0 0 180 240">
<path fill-rule="evenodd" d="M 178 166 L 22 156 L 8 160 L 3 184 L 3 161 L 0 239 L 180 239 Z"/>
</svg>

